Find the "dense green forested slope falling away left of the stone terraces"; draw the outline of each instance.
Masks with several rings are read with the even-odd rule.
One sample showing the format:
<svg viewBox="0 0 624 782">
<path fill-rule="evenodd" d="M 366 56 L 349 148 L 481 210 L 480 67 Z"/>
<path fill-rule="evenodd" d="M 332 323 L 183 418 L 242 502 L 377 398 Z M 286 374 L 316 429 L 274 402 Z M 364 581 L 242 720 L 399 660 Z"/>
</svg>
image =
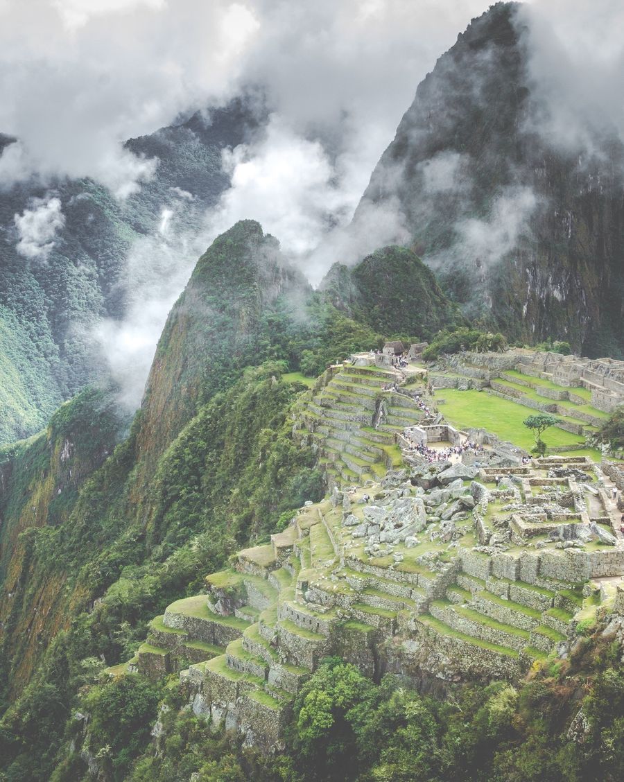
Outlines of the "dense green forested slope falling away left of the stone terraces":
<svg viewBox="0 0 624 782">
<path fill-rule="evenodd" d="M 285 511 L 324 493 L 314 454 L 291 439 L 289 409 L 299 392 L 275 379 L 279 375 L 274 364 L 249 368 L 235 386 L 199 408 L 160 458 L 152 493 L 142 497 L 147 526 L 142 516 L 132 522 L 128 513 L 136 491 L 132 467 L 139 415 L 129 438 L 84 482 L 81 493 L 74 493 L 59 525 L 22 534 L 13 561 L 22 558 L 23 567 L 32 569 L 32 591 L 11 605 L 5 631 L 13 632 L 5 632 L 0 669 L 3 697 L 13 701 L 0 720 L 0 755 L 10 779 L 49 779 L 63 726 L 85 682 L 85 659 L 104 655 L 106 665 L 116 665 L 131 658 L 149 621 L 167 604 L 199 591 L 206 572 L 223 568 L 231 551 L 273 531 Z M 62 408 L 54 424 L 61 440 L 72 410 L 80 418 L 83 409 L 87 420 L 88 407 Z M 102 426 L 101 417 L 93 420 Z M 95 442 L 85 432 L 88 454 Z M 39 482 L 48 480 L 50 453 L 42 437 L 5 458 L 24 466 L 3 495 L 9 525 L 17 524 L 22 508 L 30 508 Z M 65 594 L 56 586 L 63 583 Z M 54 611 L 65 614 L 65 601 L 74 604 L 70 627 L 47 637 L 47 650 L 32 647 L 28 633 L 19 632 L 30 623 L 29 595 L 46 590 L 55 597 L 58 590 L 62 598 L 52 603 L 51 619 Z M 94 605 L 95 597 L 102 599 Z M 22 676 L 30 674 L 21 694 L 23 680 L 9 668 L 10 661 L 34 669 L 20 669 Z M 50 715 L 49 728 L 43 713 Z"/>
</svg>

